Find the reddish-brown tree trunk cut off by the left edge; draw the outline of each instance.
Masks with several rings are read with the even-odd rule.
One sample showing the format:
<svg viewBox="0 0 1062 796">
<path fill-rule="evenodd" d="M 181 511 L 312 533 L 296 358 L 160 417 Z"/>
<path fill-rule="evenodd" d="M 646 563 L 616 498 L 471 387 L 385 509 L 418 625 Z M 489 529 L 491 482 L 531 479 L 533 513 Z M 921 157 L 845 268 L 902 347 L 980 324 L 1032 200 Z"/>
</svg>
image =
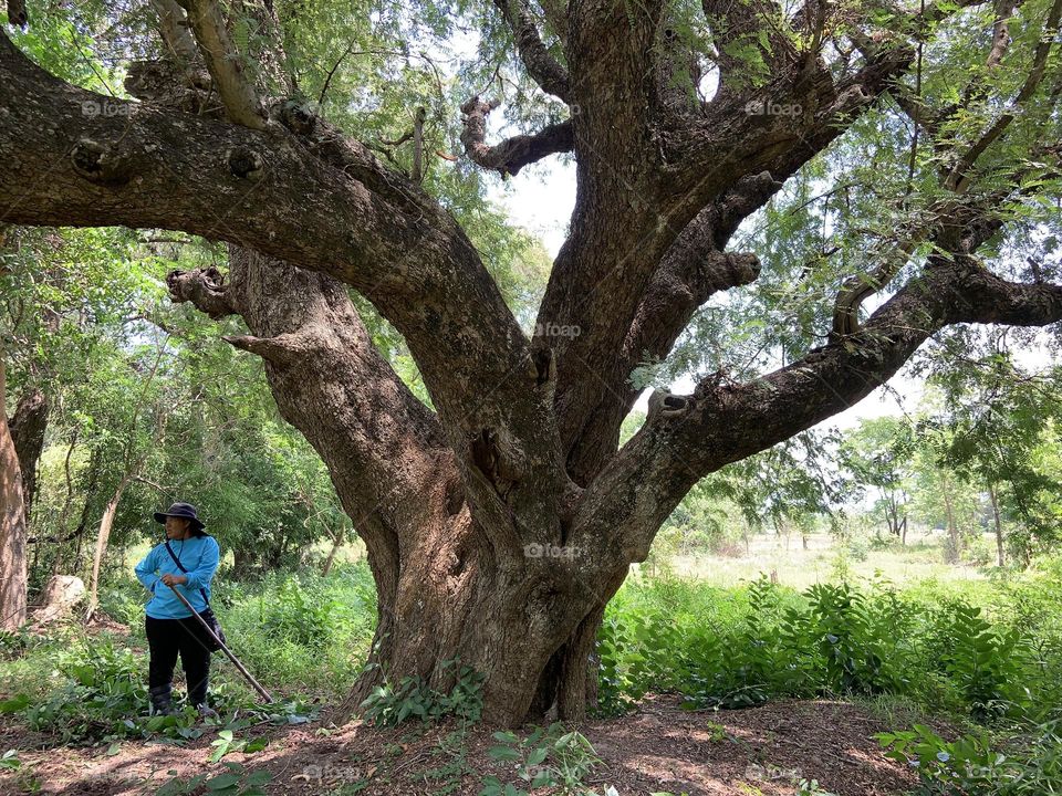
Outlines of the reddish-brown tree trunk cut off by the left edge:
<svg viewBox="0 0 1062 796">
<path fill-rule="evenodd" d="M 0 628 L 25 624 L 25 506 L 22 474 L 4 411 L 6 371 L 0 350 Z"/>
</svg>

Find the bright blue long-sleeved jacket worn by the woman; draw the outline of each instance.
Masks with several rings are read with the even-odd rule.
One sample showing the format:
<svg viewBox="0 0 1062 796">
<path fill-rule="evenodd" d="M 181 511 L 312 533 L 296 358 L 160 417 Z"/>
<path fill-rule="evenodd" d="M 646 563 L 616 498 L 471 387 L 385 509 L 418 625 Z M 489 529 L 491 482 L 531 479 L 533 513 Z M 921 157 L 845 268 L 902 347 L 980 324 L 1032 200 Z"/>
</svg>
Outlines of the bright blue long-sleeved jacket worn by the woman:
<svg viewBox="0 0 1062 796">
<path fill-rule="evenodd" d="M 218 569 L 218 559 L 221 551 L 214 536 L 190 536 L 186 540 L 170 540 L 169 548 L 188 570 L 188 583 L 175 588 L 191 603 L 196 612 L 206 610 L 207 604 L 199 589 L 206 589 L 207 599 L 210 599 L 210 579 Z M 166 552 L 166 545 L 160 544 L 152 548 L 144 556 L 144 561 L 136 565 L 136 579 L 144 584 L 154 597 L 144 606 L 144 612 L 153 619 L 181 619 L 191 616 L 185 608 L 174 589 L 162 582 L 166 573 L 183 575 L 180 567 Z"/>
</svg>

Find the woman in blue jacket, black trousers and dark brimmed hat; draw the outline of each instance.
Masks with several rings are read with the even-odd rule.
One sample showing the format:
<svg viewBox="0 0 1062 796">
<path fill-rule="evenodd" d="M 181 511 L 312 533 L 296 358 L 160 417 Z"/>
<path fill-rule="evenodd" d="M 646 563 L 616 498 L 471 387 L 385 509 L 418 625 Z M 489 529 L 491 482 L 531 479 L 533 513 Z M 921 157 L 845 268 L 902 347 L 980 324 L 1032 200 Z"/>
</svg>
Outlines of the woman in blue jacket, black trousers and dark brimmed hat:
<svg viewBox="0 0 1062 796">
<path fill-rule="evenodd" d="M 174 667 L 180 654 L 188 685 L 188 702 L 202 716 L 217 715 L 207 704 L 210 677 L 210 650 L 207 631 L 174 594 L 178 589 L 197 614 L 209 608 L 210 579 L 218 568 L 220 551 L 212 536 L 204 533 L 196 507 L 174 503 L 167 512 L 156 512 L 155 521 L 165 524 L 166 541 L 156 545 L 136 565 L 136 577 L 154 596 L 144 606 L 144 626 L 150 650 L 148 688 L 155 713 L 174 710 Z M 173 587 L 173 588 L 170 588 Z"/>
</svg>

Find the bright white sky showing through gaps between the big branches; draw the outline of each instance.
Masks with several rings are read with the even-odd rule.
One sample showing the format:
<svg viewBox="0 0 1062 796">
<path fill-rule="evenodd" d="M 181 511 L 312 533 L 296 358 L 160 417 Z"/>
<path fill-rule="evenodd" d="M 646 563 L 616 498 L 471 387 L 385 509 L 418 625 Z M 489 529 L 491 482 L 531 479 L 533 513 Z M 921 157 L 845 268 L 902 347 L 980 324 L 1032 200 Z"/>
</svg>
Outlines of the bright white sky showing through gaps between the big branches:
<svg viewBox="0 0 1062 796">
<path fill-rule="evenodd" d="M 499 140 L 507 135 L 507 130 L 500 125 L 491 124 L 489 128 L 488 140 Z M 490 196 L 504 208 L 513 223 L 537 235 L 550 254 L 555 256 L 564 242 L 565 228 L 575 205 L 575 168 L 572 164 L 562 164 L 556 158 L 551 158 L 523 169 L 506 182 L 498 180 L 491 187 Z M 1042 347 L 1038 350 L 1018 350 L 1016 357 L 1022 365 L 1034 369 L 1045 367 L 1051 360 L 1047 349 Z M 855 406 L 827 418 L 815 428 L 847 429 L 857 426 L 864 418 L 902 415 L 904 410 L 914 412 L 922 398 L 922 381 L 907 378 L 900 371 L 888 384 L 892 387 L 889 391 L 878 388 Z M 688 394 L 693 388 L 694 380 L 688 377 L 671 385 L 676 392 Z M 648 392 L 643 392 L 636 408 L 645 411 Z M 895 394 L 898 394 L 903 407 L 897 402 Z"/>
</svg>

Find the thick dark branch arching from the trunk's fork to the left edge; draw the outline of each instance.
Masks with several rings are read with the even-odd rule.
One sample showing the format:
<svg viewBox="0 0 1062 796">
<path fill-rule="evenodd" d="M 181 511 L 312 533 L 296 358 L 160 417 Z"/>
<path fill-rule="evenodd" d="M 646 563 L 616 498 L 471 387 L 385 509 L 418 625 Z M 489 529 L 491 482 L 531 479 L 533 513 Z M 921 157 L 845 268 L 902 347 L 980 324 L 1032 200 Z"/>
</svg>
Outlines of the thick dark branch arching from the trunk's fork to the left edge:
<svg viewBox="0 0 1062 796">
<path fill-rule="evenodd" d="M 7 38 L 0 78 L 20 97 L 0 114 L 8 221 L 179 229 L 354 286 L 405 336 L 473 510 L 496 527 L 512 526 L 516 506 L 538 517 L 542 527 L 514 530 L 516 551 L 520 533 L 554 533 L 565 480 L 554 381 L 438 202 L 298 107 L 280 108 L 290 135 L 267 135 L 100 97 L 51 77 Z M 86 103 L 117 112 L 86 115 Z M 492 399 L 476 401 L 479 389 Z M 485 433 L 503 441 L 494 454 L 511 476 L 504 494 L 472 460 L 470 441 Z"/>
</svg>

